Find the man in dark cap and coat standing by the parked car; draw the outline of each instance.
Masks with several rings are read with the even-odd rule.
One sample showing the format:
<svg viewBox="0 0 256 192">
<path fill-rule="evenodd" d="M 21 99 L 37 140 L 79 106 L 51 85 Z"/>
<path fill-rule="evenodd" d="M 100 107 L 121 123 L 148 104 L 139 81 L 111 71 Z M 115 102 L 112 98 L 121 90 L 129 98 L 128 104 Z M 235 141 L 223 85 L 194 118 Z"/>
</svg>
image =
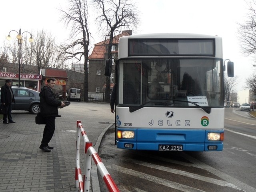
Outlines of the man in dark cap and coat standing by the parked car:
<svg viewBox="0 0 256 192">
<path fill-rule="evenodd" d="M 4 114 L 3 123 L 15 123 L 12 120 L 12 102 L 15 103 L 14 94 L 12 91 L 12 80 L 7 79 L 5 85 L 1 88 L 1 102 L 5 106 L 6 114 Z M 7 122 L 8 118 L 8 122 Z"/>
</svg>

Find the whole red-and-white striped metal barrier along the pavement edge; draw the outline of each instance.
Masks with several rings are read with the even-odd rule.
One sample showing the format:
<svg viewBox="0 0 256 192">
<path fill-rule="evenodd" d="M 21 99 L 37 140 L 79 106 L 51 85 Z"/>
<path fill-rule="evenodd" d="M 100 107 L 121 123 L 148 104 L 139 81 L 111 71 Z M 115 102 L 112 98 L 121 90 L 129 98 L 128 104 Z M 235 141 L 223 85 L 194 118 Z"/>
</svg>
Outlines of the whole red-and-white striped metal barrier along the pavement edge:
<svg viewBox="0 0 256 192">
<path fill-rule="evenodd" d="M 102 176 L 109 192 L 120 192 L 116 186 L 114 180 L 108 173 L 108 170 L 102 163 L 100 156 L 97 154 L 95 149 L 92 147 L 92 142 L 89 142 L 89 139 L 84 131 L 84 128 L 81 124 L 81 121 L 76 122 L 76 188 L 79 188 L 80 192 L 89 192 L 90 190 L 90 175 L 91 175 L 91 166 L 92 158 L 94 163 L 99 170 L 100 175 Z M 82 171 L 80 169 L 80 133 L 84 138 L 84 153 L 86 154 L 84 162 L 84 177 L 82 177 Z"/>
</svg>

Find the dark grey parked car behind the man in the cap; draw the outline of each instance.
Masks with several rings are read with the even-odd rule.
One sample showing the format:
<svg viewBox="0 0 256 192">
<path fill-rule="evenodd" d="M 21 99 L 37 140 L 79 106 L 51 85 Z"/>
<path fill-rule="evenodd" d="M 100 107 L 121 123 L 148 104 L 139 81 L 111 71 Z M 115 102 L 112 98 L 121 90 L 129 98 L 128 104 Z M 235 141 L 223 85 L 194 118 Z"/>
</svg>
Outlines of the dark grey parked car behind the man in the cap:
<svg viewBox="0 0 256 192">
<path fill-rule="evenodd" d="M 15 98 L 15 103 L 12 103 L 12 110 L 26 110 L 30 111 L 32 114 L 40 112 L 40 97 L 38 91 L 14 86 L 12 86 L 12 90 Z"/>
</svg>

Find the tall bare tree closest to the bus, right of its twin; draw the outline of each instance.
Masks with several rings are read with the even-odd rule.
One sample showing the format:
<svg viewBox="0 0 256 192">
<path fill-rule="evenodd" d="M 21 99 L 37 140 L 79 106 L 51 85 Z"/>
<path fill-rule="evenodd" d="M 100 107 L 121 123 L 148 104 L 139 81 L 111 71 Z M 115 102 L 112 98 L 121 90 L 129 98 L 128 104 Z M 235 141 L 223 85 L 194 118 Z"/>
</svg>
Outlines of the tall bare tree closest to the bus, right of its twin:
<svg viewBox="0 0 256 192">
<path fill-rule="evenodd" d="M 103 30 L 107 46 L 106 59 L 112 58 L 111 48 L 114 36 L 122 29 L 136 28 L 139 22 L 138 10 L 131 0 L 93 0 L 100 11 L 97 20 Z M 106 41 L 109 39 L 109 41 Z M 106 76 L 105 102 L 110 102 L 110 76 Z"/>
</svg>

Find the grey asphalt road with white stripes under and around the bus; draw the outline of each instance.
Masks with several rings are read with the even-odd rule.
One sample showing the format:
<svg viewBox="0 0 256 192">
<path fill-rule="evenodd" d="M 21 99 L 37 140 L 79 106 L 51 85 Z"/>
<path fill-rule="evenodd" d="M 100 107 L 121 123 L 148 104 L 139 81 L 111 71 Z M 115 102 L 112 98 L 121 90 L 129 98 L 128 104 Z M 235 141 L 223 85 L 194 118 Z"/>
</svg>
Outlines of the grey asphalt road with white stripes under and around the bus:
<svg viewBox="0 0 256 192">
<path fill-rule="evenodd" d="M 117 149 L 114 127 L 99 155 L 122 192 L 255 192 L 256 119 L 225 108 L 222 152 L 152 152 Z M 100 178 L 100 177 L 99 177 Z M 108 191 L 100 179 L 100 191 Z"/>
</svg>

